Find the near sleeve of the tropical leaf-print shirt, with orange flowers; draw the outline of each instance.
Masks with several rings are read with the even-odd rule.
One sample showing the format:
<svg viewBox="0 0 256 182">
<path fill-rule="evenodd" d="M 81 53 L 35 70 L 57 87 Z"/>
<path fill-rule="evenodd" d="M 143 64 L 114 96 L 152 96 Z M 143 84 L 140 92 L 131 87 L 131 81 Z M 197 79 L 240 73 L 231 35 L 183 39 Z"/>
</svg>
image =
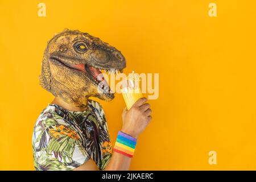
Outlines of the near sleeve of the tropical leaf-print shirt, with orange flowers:
<svg viewBox="0 0 256 182">
<path fill-rule="evenodd" d="M 36 123 L 32 140 L 36 170 L 72 170 L 90 159 L 78 132 L 46 118 Z"/>
</svg>

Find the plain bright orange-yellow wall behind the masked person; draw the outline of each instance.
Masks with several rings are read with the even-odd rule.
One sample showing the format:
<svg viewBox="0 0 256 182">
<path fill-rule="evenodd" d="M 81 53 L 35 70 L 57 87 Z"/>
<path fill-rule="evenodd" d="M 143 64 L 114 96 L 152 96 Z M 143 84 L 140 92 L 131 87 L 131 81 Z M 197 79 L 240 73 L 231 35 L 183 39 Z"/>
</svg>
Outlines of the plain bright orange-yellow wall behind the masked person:
<svg viewBox="0 0 256 182">
<path fill-rule="evenodd" d="M 256 169 L 256 1 L 216 0 L 212 18 L 210 2 L 1 1 L 0 169 L 34 169 L 32 131 L 53 99 L 39 86 L 40 64 L 64 28 L 120 49 L 125 73 L 159 73 L 131 169 Z M 125 104 L 121 94 L 100 102 L 114 143 Z"/>
</svg>

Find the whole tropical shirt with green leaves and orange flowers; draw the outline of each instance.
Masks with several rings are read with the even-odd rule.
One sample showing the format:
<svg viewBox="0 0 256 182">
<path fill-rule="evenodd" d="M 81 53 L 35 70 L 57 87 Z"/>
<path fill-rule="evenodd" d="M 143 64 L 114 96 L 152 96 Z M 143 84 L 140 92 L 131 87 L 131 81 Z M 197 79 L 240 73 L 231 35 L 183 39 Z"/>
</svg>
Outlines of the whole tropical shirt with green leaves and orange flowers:
<svg viewBox="0 0 256 182">
<path fill-rule="evenodd" d="M 32 146 L 36 170 L 72 170 L 90 158 L 102 170 L 113 152 L 104 110 L 93 100 L 85 111 L 49 104 L 36 121 Z"/>
</svg>

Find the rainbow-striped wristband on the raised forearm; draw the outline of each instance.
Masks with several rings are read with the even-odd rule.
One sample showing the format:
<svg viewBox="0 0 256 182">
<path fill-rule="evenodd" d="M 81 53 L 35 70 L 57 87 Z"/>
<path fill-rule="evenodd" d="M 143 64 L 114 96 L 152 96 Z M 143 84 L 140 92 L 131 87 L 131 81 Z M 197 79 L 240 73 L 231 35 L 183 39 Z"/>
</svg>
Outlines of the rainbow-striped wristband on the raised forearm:
<svg viewBox="0 0 256 182">
<path fill-rule="evenodd" d="M 129 158 L 132 158 L 134 155 L 135 146 L 137 139 L 123 133 L 122 131 L 118 132 L 117 141 L 115 142 L 114 151 L 120 154 L 126 155 Z"/>
</svg>

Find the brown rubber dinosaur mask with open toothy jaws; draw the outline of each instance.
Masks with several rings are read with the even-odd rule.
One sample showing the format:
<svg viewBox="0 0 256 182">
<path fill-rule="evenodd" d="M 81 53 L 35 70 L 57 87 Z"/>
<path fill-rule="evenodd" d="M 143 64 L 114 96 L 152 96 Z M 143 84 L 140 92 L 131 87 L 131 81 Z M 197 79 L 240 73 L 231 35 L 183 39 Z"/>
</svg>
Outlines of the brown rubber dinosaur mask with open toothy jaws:
<svg viewBox="0 0 256 182">
<path fill-rule="evenodd" d="M 104 93 L 98 85 L 101 70 L 121 71 L 126 67 L 122 53 L 99 38 L 78 30 L 64 30 L 47 44 L 42 61 L 40 85 L 73 106 L 86 106 L 89 97 L 110 101 L 109 85 Z"/>
</svg>

